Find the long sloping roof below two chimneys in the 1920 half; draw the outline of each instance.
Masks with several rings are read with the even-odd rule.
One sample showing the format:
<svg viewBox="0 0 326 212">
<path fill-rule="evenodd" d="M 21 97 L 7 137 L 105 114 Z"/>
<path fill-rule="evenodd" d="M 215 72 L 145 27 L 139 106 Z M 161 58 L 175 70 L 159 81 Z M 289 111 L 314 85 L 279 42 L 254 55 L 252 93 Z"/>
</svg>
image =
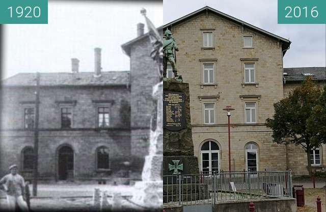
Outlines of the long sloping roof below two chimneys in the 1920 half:
<svg viewBox="0 0 326 212">
<path fill-rule="evenodd" d="M 129 71 L 101 72 L 94 77 L 94 72 L 79 73 L 40 73 L 41 86 L 103 86 L 129 84 Z M 20 73 L 2 80 L 2 86 L 33 86 L 36 85 L 36 73 Z"/>
</svg>

